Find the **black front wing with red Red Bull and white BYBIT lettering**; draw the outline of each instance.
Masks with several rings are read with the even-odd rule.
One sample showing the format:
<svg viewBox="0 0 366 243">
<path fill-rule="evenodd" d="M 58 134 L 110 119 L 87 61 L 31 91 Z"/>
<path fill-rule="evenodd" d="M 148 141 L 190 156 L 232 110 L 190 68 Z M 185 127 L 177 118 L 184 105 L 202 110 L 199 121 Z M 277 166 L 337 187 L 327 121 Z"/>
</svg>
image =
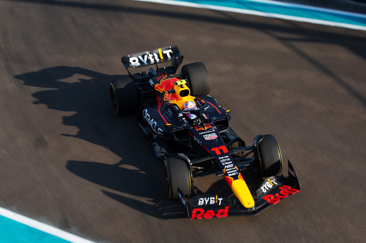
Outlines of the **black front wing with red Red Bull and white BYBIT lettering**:
<svg viewBox="0 0 366 243">
<path fill-rule="evenodd" d="M 257 215 L 281 200 L 300 191 L 300 182 L 294 167 L 288 161 L 288 177 L 271 176 L 266 178 L 258 190 L 252 194 L 254 207 L 245 208 L 236 197 L 219 195 L 197 195 L 186 199 L 178 188 L 178 200 L 190 220 L 211 219 L 238 215 Z"/>
</svg>

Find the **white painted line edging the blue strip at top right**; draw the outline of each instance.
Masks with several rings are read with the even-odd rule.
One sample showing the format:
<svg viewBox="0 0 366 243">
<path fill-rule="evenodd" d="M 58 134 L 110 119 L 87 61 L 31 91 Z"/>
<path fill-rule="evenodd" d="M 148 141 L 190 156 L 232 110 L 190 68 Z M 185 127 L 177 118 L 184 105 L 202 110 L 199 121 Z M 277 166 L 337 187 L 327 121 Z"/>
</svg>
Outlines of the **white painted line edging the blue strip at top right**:
<svg viewBox="0 0 366 243">
<path fill-rule="evenodd" d="M 343 27 L 343 28 L 349 28 L 349 29 L 354 29 L 354 30 L 366 30 L 366 26 L 359 26 L 356 24 L 346 24 L 346 23 L 333 22 L 333 21 L 328 21 L 328 20 L 310 19 L 310 18 L 296 17 L 296 16 L 291 16 L 291 15 L 283 15 L 283 14 L 278 14 L 278 13 L 267 13 L 267 12 L 249 10 L 249 9 L 231 8 L 231 7 L 223 7 L 223 6 L 217 6 L 217 5 L 201 4 L 201 3 L 190 3 L 190 2 L 174 1 L 174 0 L 133 0 L 133 1 L 178 5 L 178 6 L 192 7 L 192 8 L 205 8 L 205 9 L 213 9 L 213 10 L 218 10 L 218 11 L 227 11 L 227 12 L 257 15 L 257 16 L 263 16 L 263 17 L 269 17 L 269 18 L 276 18 L 276 19 L 287 19 L 287 20 L 306 22 L 306 23 L 312 23 L 312 24 L 322 24 L 322 25 L 328 25 L 328 26 Z"/>
</svg>

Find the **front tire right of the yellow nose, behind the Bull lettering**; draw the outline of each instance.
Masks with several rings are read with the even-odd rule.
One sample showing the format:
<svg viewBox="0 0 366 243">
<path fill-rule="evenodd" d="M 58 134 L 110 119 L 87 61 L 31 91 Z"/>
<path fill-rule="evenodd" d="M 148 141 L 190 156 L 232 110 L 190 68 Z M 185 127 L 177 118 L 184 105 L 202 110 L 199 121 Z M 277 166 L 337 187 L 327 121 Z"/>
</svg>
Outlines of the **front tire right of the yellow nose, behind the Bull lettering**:
<svg viewBox="0 0 366 243">
<path fill-rule="evenodd" d="M 275 136 L 263 135 L 258 144 L 259 158 L 261 160 L 262 177 L 277 175 L 282 171 L 282 155 Z"/>
</svg>

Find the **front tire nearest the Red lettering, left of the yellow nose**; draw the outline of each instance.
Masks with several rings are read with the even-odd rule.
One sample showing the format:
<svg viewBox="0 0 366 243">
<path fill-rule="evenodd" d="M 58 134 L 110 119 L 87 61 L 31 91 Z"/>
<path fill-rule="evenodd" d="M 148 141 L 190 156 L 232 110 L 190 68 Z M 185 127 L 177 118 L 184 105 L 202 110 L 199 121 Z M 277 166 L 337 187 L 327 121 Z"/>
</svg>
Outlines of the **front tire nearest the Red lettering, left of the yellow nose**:
<svg viewBox="0 0 366 243">
<path fill-rule="evenodd" d="M 178 187 L 185 196 L 191 194 L 192 177 L 187 162 L 179 157 L 168 157 L 164 160 L 165 183 L 170 198 L 177 198 Z"/>
</svg>

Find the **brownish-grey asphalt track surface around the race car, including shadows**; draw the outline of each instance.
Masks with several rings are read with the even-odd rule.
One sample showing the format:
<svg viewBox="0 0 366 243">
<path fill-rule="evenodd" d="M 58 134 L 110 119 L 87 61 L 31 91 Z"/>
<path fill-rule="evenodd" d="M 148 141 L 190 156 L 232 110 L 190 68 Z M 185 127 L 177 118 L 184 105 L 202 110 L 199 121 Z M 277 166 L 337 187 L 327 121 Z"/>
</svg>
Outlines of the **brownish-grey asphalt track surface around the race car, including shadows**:
<svg viewBox="0 0 366 243">
<path fill-rule="evenodd" d="M 0 23 L 1 207 L 96 242 L 365 239 L 366 32 L 136 1 L 0 0 Z M 108 92 L 122 55 L 169 45 L 206 64 L 248 144 L 276 136 L 300 193 L 254 217 L 184 217 Z M 215 175 L 195 185 L 230 194 Z"/>
</svg>

